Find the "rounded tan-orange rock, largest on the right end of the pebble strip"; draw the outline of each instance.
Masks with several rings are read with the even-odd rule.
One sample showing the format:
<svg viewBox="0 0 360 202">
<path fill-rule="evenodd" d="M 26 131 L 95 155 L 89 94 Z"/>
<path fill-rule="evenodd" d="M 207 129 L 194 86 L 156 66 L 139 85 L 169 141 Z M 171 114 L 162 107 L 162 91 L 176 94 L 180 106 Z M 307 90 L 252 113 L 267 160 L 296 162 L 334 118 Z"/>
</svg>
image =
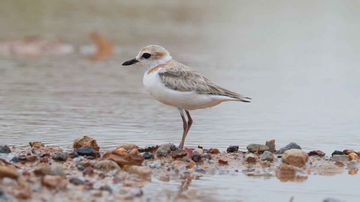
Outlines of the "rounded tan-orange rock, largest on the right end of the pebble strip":
<svg viewBox="0 0 360 202">
<path fill-rule="evenodd" d="M 298 149 L 285 150 L 281 157 L 284 163 L 298 167 L 304 166 L 308 158 L 309 155 L 305 151 Z"/>
</svg>

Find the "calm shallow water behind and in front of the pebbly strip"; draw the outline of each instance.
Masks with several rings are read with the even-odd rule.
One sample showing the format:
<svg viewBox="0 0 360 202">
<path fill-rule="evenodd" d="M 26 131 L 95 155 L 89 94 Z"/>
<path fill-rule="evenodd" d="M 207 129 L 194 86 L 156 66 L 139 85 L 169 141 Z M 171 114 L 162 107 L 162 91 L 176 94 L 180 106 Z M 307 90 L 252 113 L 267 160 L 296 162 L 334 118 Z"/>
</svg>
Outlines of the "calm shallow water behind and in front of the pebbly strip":
<svg viewBox="0 0 360 202">
<path fill-rule="evenodd" d="M 113 1 L 101 8 L 97 1 L 86 6 L 81 6 L 85 1 L 34 1 L 24 8 L 14 2 L 0 3 L 0 23 L 9 28 L 0 37 L 39 35 L 82 46 L 91 43 L 86 33 L 96 28 L 120 48 L 99 62 L 81 54 L 0 56 L 0 145 L 26 148 L 29 141 L 41 141 L 71 148 L 83 134 L 102 150 L 123 142 L 179 143 L 177 110 L 148 95 L 143 69 L 121 66 L 141 47 L 158 44 L 219 86 L 253 98 L 191 111 L 194 124 L 186 147 L 226 150 L 235 144 L 246 150 L 250 143 L 275 139 L 277 148 L 296 142 L 327 156 L 360 150 L 360 5 L 355 1 L 210 1 L 206 6 L 202 1 Z M 327 196 L 355 201 L 358 180 L 357 175 L 311 175 L 305 182 L 283 183 L 228 174 L 193 180 L 191 187 L 226 200 L 295 196 L 302 201 L 297 196 L 306 194 L 307 201 Z M 144 191 L 176 186 L 153 180 Z"/>
</svg>

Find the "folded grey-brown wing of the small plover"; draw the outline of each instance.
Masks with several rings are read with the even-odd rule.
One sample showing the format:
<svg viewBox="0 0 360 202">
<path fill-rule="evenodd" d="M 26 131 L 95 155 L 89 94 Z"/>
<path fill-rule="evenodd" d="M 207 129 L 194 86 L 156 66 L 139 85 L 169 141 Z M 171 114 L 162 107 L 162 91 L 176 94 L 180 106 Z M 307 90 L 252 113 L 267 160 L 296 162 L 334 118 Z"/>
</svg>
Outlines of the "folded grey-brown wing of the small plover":
<svg viewBox="0 0 360 202">
<path fill-rule="evenodd" d="M 166 66 L 164 72 L 160 72 L 159 76 L 168 88 L 176 91 L 195 91 L 197 93 L 229 96 L 243 102 L 249 101 L 242 98 L 251 99 L 215 85 L 204 75 L 178 62 L 172 66 Z"/>
</svg>

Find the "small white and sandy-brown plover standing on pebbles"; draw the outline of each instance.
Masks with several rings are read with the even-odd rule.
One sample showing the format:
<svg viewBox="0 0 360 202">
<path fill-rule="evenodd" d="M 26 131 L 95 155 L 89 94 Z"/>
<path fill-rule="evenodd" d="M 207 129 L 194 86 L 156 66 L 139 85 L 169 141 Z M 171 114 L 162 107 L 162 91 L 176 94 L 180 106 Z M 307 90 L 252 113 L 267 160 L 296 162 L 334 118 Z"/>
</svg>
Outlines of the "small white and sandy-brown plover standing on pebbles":
<svg viewBox="0 0 360 202">
<path fill-rule="evenodd" d="M 143 84 L 152 97 L 179 110 L 184 129 L 180 149 L 183 149 L 186 135 L 193 124 L 190 110 L 213 107 L 225 101 L 250 102 L 248 99 L 251 99 L 217 86 L 194 69 L 172 60 L 170 53 L 159 45 L 143 47 L 136 58 L 122 65 L 132 64 L 145 70 Z"/>
</svg>

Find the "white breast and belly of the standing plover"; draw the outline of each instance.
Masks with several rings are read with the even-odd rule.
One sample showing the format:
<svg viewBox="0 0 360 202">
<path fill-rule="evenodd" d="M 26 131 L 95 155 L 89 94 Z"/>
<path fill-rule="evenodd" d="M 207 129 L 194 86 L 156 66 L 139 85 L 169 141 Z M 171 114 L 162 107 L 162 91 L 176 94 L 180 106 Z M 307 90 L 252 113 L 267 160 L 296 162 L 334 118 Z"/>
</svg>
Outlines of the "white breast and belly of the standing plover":
<svg viewBox="0 0 360 202">
<path fill-rule="evenodd" d="M 145 73 L 143 83 L 146 91 L 159 102 L 185 110 L 204 109 L 221 102 L 235 100 L 227 96 L 181 92 L 170 89 L 161 81 L 158 71 Z"/>
</svg>

